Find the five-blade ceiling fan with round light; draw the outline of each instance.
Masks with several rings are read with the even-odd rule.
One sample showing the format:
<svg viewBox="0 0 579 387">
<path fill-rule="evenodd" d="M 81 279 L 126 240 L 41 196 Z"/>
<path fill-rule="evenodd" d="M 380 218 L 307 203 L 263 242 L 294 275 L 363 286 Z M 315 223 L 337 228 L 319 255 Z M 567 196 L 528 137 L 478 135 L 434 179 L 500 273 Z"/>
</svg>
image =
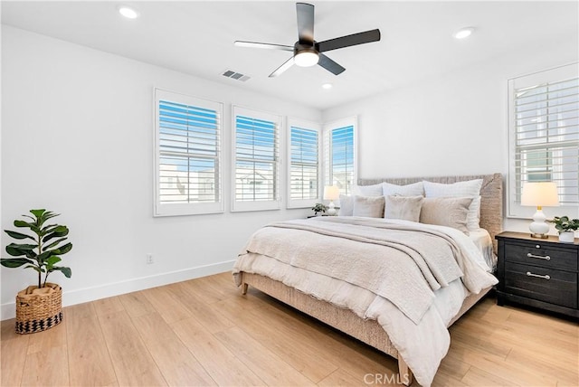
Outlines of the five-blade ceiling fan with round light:
<svg viewBox="0 0 579 387">
<path fill-rule="evenodd" d="M 324 42 L 314 40 L 314 5 L 306 3 L 296 3 L 298 12 L 298 42 L 293 46 L 283 44 L 271 44 L 261 42 L 235 41 L 239 47 L 252 47 L 270 50 L 281 50 L 293 52 L 293 56 L 285 61 L 280 67 L 270 74 L 270 78 L 277 77 L 282 72 L 288 70 L 294 63 L 301 67 L 309 67 L 319 64 L 327 71 L 338 75 L 346 69 L 332 61 L 322 52 L 337 50 L 339 48 L 377 42 L 380 40 L 380 30 L 375 29 L 365 33 L 353 33 Z"/>
</svg>

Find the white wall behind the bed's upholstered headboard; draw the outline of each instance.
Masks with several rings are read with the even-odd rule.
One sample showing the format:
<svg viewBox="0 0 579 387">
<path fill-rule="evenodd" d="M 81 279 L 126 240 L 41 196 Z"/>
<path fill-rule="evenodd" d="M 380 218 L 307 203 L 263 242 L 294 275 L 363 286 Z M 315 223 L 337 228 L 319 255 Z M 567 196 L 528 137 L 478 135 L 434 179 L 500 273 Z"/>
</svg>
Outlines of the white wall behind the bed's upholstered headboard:
<svg viewBox="0 0 579 387">
<path fill-rule="evenodd" d="M 506 177 L 508 79 L 578 61 L 578 50 L 576 37 L 550 47 L 527 47 L 440 78 L 327 109 L 323 120 L 358 115 L 361 178 L 496 172 Z M 506 219 L 504 229 L 528 231 L 528 223 Z"/>
</svg>

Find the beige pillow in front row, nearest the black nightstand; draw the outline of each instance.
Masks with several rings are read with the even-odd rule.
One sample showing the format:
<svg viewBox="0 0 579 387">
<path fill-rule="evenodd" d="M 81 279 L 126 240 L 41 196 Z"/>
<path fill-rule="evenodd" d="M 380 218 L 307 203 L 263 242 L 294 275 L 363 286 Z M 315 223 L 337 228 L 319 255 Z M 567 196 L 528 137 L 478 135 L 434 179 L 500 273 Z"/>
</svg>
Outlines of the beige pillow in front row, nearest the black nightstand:
<svg viewBox="0 0 579 387">
<path fill-rule="evenodd" d="M 469 235 L 467 215 L 471 197 L 426 197 L 422 201 L 420 222 L 452 227 Z"/>
</svg>

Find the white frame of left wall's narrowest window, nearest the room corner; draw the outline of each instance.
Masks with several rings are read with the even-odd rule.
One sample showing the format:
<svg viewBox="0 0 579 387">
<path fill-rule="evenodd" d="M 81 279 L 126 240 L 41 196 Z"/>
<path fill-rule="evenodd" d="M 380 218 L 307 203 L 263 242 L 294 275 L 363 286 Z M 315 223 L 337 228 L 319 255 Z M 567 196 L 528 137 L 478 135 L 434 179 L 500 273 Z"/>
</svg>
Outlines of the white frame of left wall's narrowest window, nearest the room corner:
<svg viewBox="0 0 579 387">
<path fill-rule="evenodd" d="M 318 133 L 318 190 L 316 192 L 316 197 L 308 198 L 308 199 L 291 199 L 291 167 L 292 167 L 292 158 L 291 158 L 291 128 L 292 127 L 299 127 L 301 129 L 307 129 L 316 131 Z M 287 165 L 286 168 L 286 208 L 293 209 L 293 208 L 310 208 L 313 206 L 314 203 L 320 203 L 322 200 L 322 192 L 323 192 L 323 168 L 322 168 L 322 126 L 318 122 L 308 121 L 305 119 L 300 118 L 291 118 L 287 119 L 286 125 L 286 155 L 287 155 Z"/>
</svg>

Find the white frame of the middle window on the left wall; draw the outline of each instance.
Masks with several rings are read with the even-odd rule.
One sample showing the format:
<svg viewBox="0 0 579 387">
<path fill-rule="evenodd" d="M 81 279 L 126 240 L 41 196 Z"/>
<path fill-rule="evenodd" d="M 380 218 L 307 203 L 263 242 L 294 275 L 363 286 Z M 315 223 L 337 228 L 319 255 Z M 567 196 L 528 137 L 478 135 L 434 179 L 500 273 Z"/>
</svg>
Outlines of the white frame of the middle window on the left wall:
<svg viewBox="0 0 579 387">
<path fill-rule="evenodd" d="M 256 119 L 261 119 L 265 121 L 271 121 L 275 124 L 277 128 L 276 133 L 276 146 L 277 146 L 277 159 L 273 162 L 274 164 L 274 171 L 273 174 L 275 175 L 274 179 L 274 197 L 272 200 L 263 200 L 263 201 L 237 201 L 237 117 L 251 117 Z M 269 210 L 280 210 L 281 208 L 281 190 L 283 189 L 282 176 L 281 174 L 281 161 L 283 159 L 283 155 L 281 155 L 281 141 L 282 141 L 282 134 L 283 134 L 283 127 L 282 127 L 282 120 L 281 116 L 275 113 L 261 111 L 257 109 L 250 109 L 244 108 L 238 105 L 232 105 L 232 179 L 231 179 L 231 201 L 232 201 L 232 212 L 250 212 L 250 211 L 269 211 Z"/>
</svg>

